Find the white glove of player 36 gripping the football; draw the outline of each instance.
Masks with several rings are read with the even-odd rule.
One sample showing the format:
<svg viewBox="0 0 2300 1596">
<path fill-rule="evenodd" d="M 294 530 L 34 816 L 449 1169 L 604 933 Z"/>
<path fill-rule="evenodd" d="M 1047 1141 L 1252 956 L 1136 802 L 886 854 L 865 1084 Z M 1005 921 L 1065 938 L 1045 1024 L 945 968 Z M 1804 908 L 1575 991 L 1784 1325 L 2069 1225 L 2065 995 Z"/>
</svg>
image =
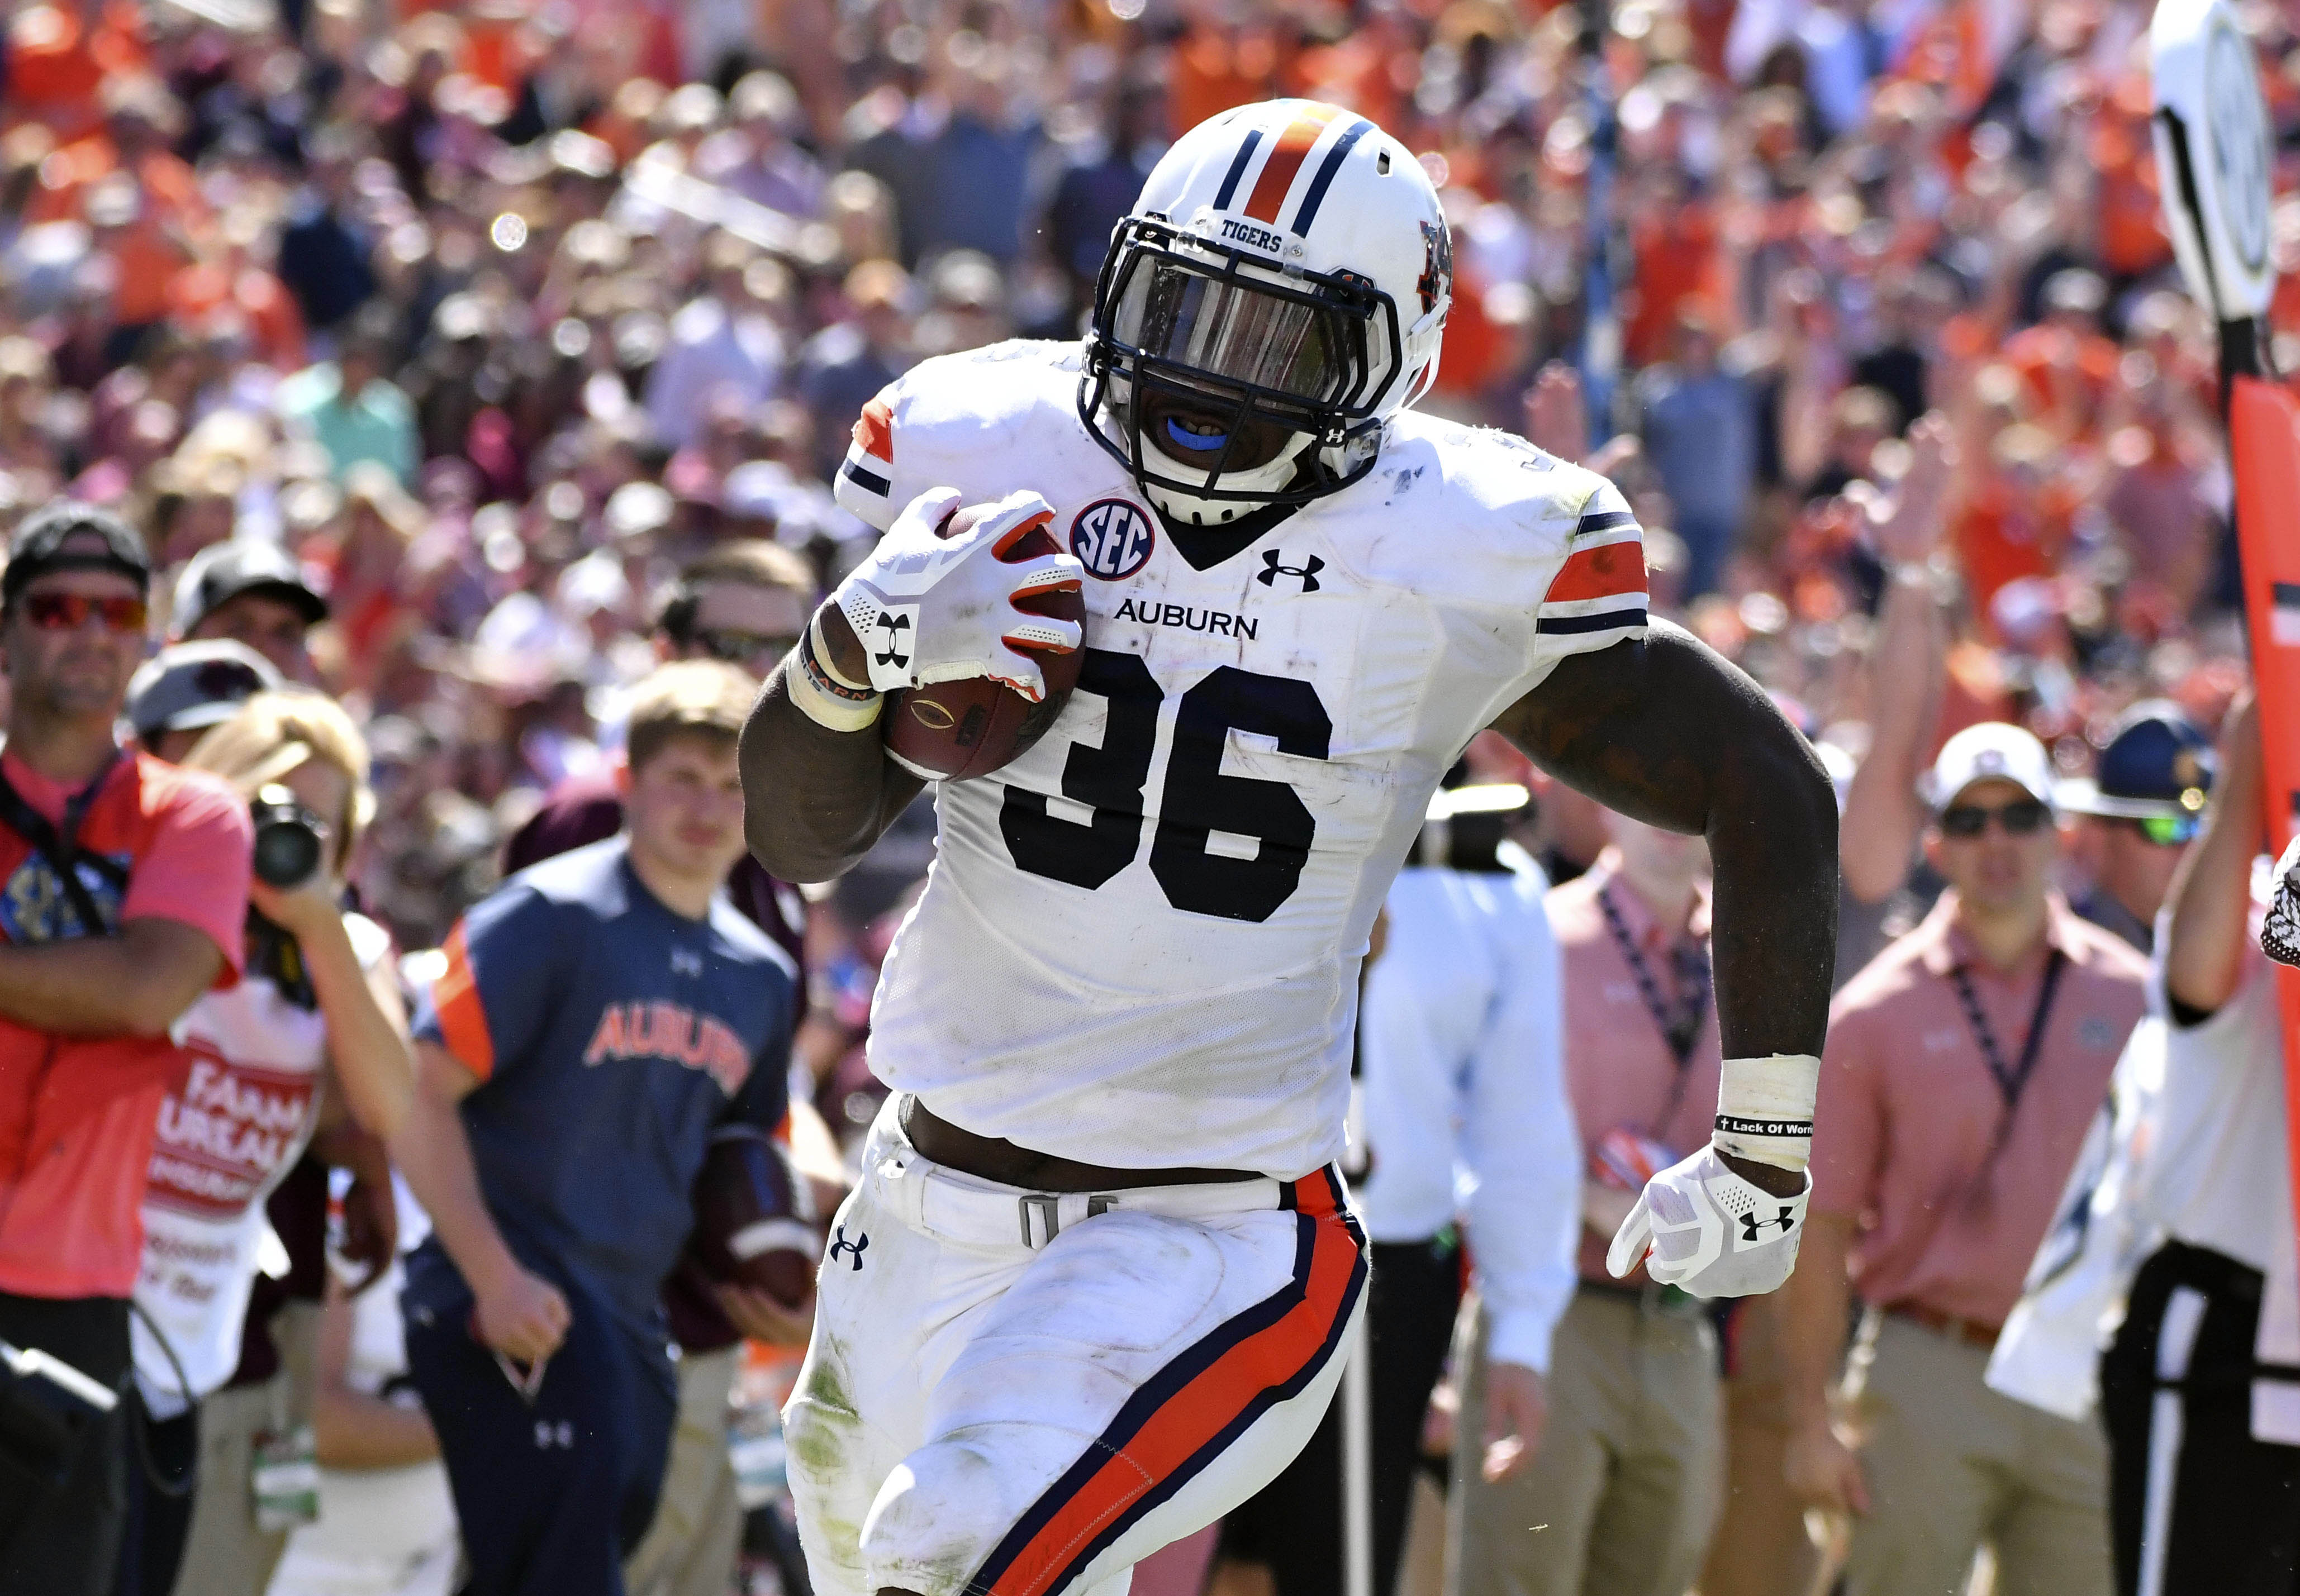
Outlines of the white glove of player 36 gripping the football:
<svg viewBox="0 0 2300 1596">
<path fill-rule="evenodd" d="M 1070 653 L 1081 639 L 1079 623 L 1028 614 L 1014 600 L 1079 586 L 1086 566 L 1072 554 L 1000 559 L 1030 527 L 1053 520 L 1035 492 L 1010 492 L 954 538 L 934 536 L 954 508 L 957 488 L 911 499 L 833 593 L 862 639 L 869 685 L 892 692 L 991 676 L 1037 704 L 1046 678 L 1023 649 Z"/>
</svg>

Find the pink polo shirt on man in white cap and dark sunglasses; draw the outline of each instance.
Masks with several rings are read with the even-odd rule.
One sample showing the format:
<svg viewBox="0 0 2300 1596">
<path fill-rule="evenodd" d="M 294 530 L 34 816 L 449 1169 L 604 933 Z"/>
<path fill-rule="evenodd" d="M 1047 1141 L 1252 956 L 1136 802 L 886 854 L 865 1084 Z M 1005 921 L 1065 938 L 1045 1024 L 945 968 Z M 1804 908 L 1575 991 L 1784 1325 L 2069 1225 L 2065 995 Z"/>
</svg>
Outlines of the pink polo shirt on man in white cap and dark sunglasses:
<svg viewBox="0 0 2300 1596">
<path fill-rule="evenodd" d="M 1851 977 L 1828 1014 L 1812 1141 L 1812 1207 L 1854 1214 L 1863 1302 L 2003 1325 L 2052 1223 L 2125 1035 L 2148 961 L 2052 899 L 2045 941 L 2068 964 L 2035 1069 L 1992 1157 L 2003 1092 L 1950 970 L 1962 968 L 2008 1067 L 2045 980 L 2038 950 L 2010 975 L 1957 929 L 1957 895 Z"/>
</svg>

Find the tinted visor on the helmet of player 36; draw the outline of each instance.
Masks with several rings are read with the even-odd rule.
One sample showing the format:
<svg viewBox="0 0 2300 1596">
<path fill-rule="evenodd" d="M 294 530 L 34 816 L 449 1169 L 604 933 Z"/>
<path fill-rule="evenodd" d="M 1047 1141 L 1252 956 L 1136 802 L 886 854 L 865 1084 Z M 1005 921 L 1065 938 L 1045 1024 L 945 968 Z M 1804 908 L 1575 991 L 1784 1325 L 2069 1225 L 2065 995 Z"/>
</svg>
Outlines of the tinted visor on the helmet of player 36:
<svg viewBox="0 0 2300 1596">
<path fill-rule="evenodd" d="M 1118 345 L 1258 396 L 1346 407 L 1366 382 L 1371 306 L 1212 276 L 1173 258 L 1136 255 L 1111 317 Z M 1180 370 L 1173 370 L 1180 368 Z"/>
</svg>

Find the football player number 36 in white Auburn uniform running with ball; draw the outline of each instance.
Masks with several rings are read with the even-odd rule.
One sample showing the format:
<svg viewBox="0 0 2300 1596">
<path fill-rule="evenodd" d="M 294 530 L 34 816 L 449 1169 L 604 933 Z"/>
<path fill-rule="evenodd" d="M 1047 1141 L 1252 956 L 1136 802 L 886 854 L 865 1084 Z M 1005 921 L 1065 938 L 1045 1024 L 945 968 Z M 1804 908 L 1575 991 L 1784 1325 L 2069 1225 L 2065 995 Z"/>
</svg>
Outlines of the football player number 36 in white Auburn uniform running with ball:
<svg viewBox="0 0 2300 1596">
<path fill-rule="evenodd" d="M 837 494 L 885 538 L 745 727 L 759 860 L 837 876 L 920 791 L 888 692 L 1042 699 L 1042 658 L 1086 653 L 1033 747 L 936 789 L 879 984 L 892 1097 L 787 1412 L 826 1596 L 1118 1596 L 1302 1447 L 1366 1274 L 1334 1173 L 1359 957 L 1483 727 L 1716 855 L 1718 1131 L 1651 1180 L 1615 1272 L 1651 1251 L 1736 1295 L 1794 1263 L 1828 780 L 1647 621 L 1612 485 L 1408 409 L 1451 278 L 1405 145 L 1244 106 L 1157 163 L 1081 343 L 925 361 L 856 423 Z M 1065 554 L 1000 559 L 1049 513 Z M 1083 639 L 1017 607 L 1070 584 Z"/>
</svg>

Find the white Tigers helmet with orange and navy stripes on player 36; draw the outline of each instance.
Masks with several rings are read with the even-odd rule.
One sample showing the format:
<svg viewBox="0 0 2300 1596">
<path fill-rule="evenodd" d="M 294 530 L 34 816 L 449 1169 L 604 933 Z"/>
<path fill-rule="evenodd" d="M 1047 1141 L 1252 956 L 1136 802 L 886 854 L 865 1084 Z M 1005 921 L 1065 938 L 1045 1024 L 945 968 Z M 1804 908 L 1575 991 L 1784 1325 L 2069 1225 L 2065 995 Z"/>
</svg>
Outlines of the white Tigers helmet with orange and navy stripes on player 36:
<svg viewBox="0 0 2300 1596">
<path fill-rule="evenodd" d="M 1405 145 L 1339 106 L 1240 106 L 1184 133 L 1111 235 L 1079 414 L 1178 520 L 1306 504 L 1371 471 L 1382 423 L 1428 393 L 1451 304 L 1454 241 Z"/>
</svg>

